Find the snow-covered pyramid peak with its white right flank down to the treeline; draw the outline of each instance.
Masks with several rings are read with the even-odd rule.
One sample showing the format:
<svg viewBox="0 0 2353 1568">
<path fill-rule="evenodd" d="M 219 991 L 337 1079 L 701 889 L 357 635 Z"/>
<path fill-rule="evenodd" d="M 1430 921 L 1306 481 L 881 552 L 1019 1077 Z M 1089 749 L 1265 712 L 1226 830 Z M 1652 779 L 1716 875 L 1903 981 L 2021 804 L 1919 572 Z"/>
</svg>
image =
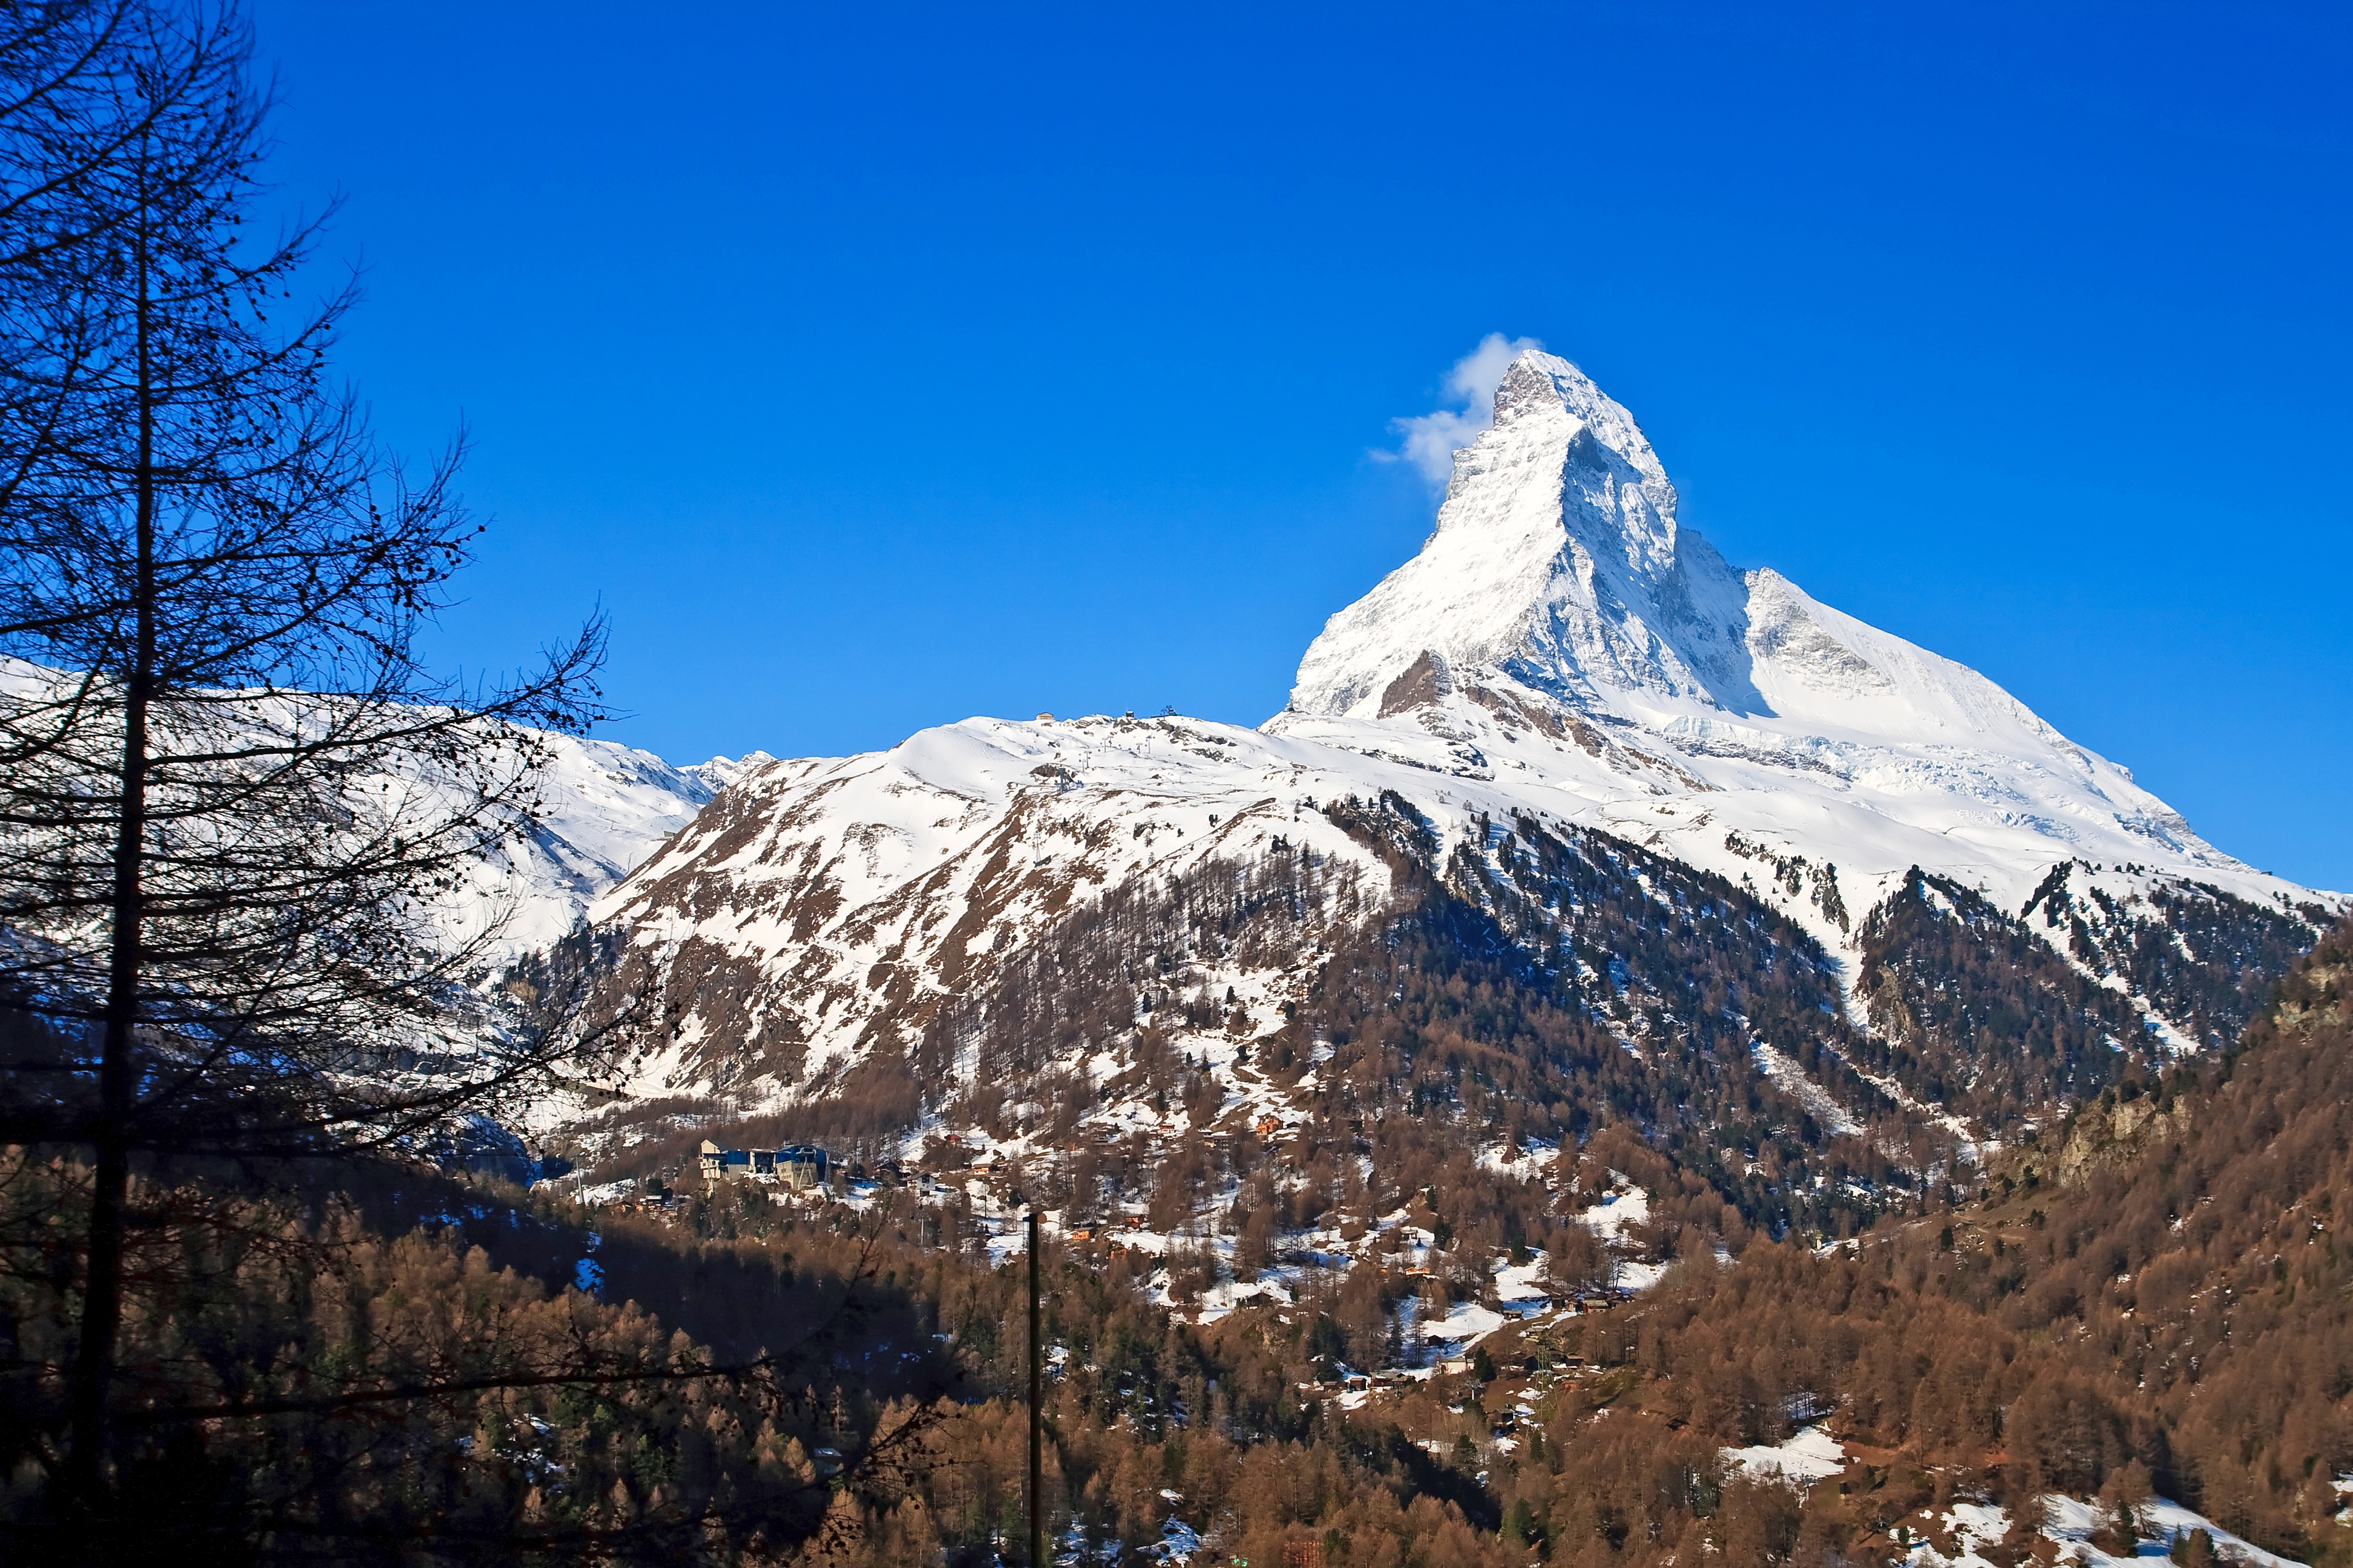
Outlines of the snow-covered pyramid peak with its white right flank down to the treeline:
<svg viewBox="0 0 2353 1568">
<path fill-rule="evenodd" d="M 1729 827 L 1835 863 L 1849 903 L 1918 865 L 2014 907 L 2068 858 L 2287 891 L 1984 675 L 1729 567 L 1633 414 L 1539 350 L 1421 552 L 1332 616 L 1266 729 L 1558 792 L 1699 865 Z"/>
</svg>

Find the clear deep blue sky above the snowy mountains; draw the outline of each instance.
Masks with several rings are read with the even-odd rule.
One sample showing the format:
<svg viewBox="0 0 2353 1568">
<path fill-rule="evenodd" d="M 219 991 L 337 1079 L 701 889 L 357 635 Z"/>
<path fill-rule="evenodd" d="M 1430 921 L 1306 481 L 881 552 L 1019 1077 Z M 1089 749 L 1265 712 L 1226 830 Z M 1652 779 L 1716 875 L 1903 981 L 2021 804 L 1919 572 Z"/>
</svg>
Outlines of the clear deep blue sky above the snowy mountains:
<svg viewBox="0 0 2353 1568">
<path fill-rule="evenodd" d="M 1737 564 L 2353 886 L 2339 7 L 256 0 L 341 350 L 673 759 L 1254 724 L 1480 336 Z"/>
</svg>

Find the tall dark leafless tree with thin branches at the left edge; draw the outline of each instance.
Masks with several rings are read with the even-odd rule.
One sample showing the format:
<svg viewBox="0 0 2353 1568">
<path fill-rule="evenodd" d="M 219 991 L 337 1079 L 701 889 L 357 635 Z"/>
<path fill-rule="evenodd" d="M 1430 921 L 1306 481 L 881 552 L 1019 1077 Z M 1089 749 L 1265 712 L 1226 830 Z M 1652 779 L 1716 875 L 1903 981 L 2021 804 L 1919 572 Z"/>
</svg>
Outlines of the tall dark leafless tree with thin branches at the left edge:
<svg viewBox="0 0 2353 1568">
<path fill-rule="evenodd" d="M 508 684 L 416 635 L 475 524 L 327 376 L 351 287 L 256 242 L 266 94 L 233 5 L 26 5 L 0 38 L 0 1138 L 87 1152 L 59 1481 L 104 1497 L 132 1166 L 414 1140 L 558 1072 L 454 1032 L 496 940 L 468 867 L 595 717 L 591 621 Z"/>
</svg>

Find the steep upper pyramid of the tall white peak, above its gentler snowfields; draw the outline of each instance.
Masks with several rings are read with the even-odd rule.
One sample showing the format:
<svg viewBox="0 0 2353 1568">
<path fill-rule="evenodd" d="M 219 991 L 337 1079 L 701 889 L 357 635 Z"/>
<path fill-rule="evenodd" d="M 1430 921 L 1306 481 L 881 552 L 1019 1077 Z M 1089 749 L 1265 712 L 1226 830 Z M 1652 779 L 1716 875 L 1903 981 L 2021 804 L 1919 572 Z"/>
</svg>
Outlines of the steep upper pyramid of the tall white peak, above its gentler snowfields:
<svg viewBox="0 0 2353 1568">
<path fill-rule="evenodd" d="M 2057 731 L 1974 670 L 1734 571 L 1675 522 L 1642 428 L 1567 360 L 1525 350 L 1454 454 L 1421 555 L 1332 616 L 1289 710 L 1381 717 L 1428 661 L 1642 726 L 1948 741 L 2042 755 Z M 1402 691 L 1398 691 L 1402 696 Z"/>
</svg>

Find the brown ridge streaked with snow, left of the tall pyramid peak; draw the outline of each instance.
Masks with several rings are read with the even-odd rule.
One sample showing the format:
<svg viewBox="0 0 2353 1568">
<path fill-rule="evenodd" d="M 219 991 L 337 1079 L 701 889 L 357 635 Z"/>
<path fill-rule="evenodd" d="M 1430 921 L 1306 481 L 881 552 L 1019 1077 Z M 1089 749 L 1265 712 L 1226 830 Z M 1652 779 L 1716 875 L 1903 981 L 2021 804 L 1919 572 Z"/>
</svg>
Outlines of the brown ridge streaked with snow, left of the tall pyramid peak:
<svg viewBox="0 0 2353 1568">
<path fill-rule="evenodd" d="M 1127 879 L 1275 837 L 1369 863 L 1313 804 L 1407 783 L 1428 778 L 1195 719 L 967 719 L 772 762 L 591 910 L 659 954 L 680 1001 L 638 1088 L 751 1060 L 781 1086 L 908 1044 L 927 999 Z"/>
</svg>

